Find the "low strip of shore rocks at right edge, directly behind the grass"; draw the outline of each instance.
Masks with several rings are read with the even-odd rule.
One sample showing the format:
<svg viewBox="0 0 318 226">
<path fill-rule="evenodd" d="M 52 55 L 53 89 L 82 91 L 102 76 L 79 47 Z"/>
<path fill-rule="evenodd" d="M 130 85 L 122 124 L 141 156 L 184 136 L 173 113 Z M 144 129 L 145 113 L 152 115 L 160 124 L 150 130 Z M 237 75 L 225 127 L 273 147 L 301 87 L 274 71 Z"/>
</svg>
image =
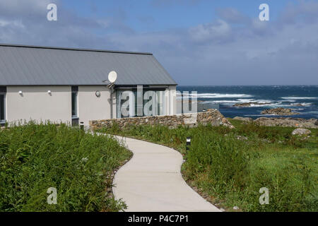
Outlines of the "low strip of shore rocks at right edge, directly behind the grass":
<svg viewBox="0 0 318 226">
<path fill-rule="evenodd" d="M 297 119 L 297 118 L 266 118 L 260 117 L 254 120 L 260 126 L 283 126 L 298 128 L 318 128 L 318 119 Z"/>
</svg>

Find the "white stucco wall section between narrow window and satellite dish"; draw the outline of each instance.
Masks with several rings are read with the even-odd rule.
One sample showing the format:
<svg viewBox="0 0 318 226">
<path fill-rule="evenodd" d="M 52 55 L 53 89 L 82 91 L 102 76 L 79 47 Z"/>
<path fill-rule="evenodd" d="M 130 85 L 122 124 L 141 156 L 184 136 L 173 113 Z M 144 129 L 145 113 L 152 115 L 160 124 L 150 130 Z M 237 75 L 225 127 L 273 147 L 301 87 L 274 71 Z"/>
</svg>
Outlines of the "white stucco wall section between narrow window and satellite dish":
<svg viewBox="0 0 318 226">
<path fill-rule="evenodd" d="M 96 91 L 100 91 L 100 97 L 96 97 Z M 78 121 L 88 126 L 90 120 L 110 118 L 110 90 L 105 85 L 78 86 Z"/>
</svg>

